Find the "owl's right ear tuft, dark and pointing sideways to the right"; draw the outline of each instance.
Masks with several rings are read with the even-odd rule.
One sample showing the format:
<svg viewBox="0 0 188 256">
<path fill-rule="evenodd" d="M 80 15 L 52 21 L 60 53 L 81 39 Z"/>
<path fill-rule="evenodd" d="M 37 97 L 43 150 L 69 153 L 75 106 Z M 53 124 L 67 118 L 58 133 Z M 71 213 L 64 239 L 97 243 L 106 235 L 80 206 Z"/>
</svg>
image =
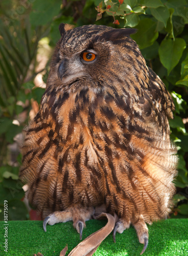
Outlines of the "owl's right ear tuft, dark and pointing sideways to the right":
<svg viewBox="0 0 188 256">
<path fill-rule="evenodd" d="M 124 36 L 129 36 L 130 34 L 135 34 L 137 29 L 112 29 L 110 31 L 106 31 L 101 35 L 100 39 L 105 41 L 114 41 L 117 39 L 121 39 Z"/>
</svg>

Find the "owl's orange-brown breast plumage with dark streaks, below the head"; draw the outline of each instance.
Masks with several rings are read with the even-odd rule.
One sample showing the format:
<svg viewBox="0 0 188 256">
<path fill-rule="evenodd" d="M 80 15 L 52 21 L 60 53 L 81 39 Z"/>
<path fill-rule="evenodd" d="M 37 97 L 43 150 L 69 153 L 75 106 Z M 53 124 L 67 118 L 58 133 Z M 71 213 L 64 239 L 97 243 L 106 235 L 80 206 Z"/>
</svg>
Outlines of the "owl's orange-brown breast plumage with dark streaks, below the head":
<svg viewBox="0 0 188 256">
<path fill-rule="evenodd" d="M 30 202 L 52 209 L 56 197 L 56 210 L 62 210 L 77 202 L 97 206 L 111 195 L 116 204 L 132 200 L 130 191 L 145 179 L 153 152 L 162 162 L 157 133 L 128 94 L 82 89 L 44 95 L 22 147 L 20 174 L 29 184 Z"/>
</svg>

